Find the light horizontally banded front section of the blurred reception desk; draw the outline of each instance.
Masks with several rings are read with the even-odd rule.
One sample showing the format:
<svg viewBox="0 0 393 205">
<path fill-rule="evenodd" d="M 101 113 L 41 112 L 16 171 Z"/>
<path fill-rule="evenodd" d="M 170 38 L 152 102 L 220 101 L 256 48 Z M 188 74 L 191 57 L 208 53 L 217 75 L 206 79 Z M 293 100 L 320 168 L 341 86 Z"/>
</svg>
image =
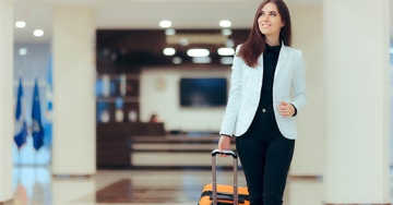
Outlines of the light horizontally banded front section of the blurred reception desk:
<svg viewBox="0 0 393 205">
<path fill-rule="evenodd" d="M 218 135 L 134 136 L 131 138 L 132 167 L 206 167 L 211 153 L 217 148 Z M 233 143 L 231 149 L 235 149 Z M 233 160 L 216 158 L 219 166 L 233 166 Z"/>
</svg>

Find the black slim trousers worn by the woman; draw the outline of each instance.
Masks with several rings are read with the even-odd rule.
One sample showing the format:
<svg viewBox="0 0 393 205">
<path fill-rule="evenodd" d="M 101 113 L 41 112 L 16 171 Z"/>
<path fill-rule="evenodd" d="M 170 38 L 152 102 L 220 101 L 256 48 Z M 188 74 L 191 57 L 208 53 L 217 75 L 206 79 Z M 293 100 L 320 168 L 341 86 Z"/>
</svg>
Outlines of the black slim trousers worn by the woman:
<svg viewBox="0 0 393 205">
<path fill-rule="evenodd" d="M 236 137 L 250 205 L 282 205 L 295 140 L 283 136 L 273 108 L 258 110 L 249 130 Z"/>
</svg>

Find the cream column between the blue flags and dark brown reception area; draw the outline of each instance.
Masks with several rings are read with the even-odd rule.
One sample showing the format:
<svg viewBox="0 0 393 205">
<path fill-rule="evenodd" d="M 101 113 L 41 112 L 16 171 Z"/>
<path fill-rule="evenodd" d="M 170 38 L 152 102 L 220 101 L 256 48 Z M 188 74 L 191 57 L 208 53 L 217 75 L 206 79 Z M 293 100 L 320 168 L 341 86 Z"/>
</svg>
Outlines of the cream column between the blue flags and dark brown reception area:
<svg viewBox="0 0 393 205">
<path fill-rule="evenodd" d="M 91 9 L 55 10 L 53 176 L 96 172 L 94 33 Z"/>
</svg>

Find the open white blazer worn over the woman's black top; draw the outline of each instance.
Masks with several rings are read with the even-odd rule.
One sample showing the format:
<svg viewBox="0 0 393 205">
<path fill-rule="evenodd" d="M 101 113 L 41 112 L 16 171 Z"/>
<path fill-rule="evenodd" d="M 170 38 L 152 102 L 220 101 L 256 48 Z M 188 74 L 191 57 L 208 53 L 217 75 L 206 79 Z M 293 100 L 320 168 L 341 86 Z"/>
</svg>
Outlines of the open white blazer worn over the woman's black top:
<svg viewBox="0 0 393 205">
<path fill-rule="evenodd" d="M 282 101 L 293 104 L 297 114 L 306 105 L 305 63 L 300 50 L 282 43 L 273 83 L 273 107 L 281 133 L 287 138 L 297 138 L 294 117 L 279 114 Z M 239 51 L 240 45 L 236 49 Z M 262 87 L 263 55 L 258 59 L 258 67 L 248 67 L 241 57 L 235 55 L 231 67 L 231 80 L 228 102 L 223 119 L 221 134 L 241 136 L 250 126 L 255 114 Z"/>
</svg>

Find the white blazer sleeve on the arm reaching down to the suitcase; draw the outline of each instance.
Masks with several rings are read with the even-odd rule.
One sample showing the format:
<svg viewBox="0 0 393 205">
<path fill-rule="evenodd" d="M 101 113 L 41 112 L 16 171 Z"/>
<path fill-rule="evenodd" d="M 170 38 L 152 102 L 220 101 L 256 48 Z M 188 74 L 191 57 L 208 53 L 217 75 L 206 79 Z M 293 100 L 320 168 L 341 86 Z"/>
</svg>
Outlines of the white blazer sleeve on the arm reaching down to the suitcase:
<svg viewBox="0 0 393 205">
<path fill-rule="evenodd" d="M 238 53 L 240 45 L 236 48 Z M 234 63 L 231 67 L 230 89 L 228 95 L 228 101 L 219 134 L 233 136 L 235 131 L 236 119 L 240 108 L 241 101 L 241 80 L 242 80 L 242 59 L 241 57 L 234 57 Z"/>
</svg>

